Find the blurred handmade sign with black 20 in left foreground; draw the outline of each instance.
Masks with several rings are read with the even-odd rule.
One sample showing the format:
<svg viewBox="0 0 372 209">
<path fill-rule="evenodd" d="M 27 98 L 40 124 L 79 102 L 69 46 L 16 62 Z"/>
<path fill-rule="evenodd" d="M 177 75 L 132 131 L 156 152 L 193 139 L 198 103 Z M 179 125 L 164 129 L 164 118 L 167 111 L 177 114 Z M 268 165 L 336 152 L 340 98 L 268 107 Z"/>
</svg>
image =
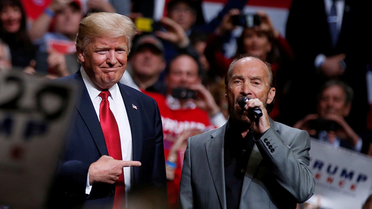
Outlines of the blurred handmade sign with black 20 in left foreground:
<svg viewBox="0 0 372 209">
<path fill-rule="evenodd" d="M 72 86 L 0 71 L 0 206 L 44 208 L 75 97 Z"/>
</svg>

